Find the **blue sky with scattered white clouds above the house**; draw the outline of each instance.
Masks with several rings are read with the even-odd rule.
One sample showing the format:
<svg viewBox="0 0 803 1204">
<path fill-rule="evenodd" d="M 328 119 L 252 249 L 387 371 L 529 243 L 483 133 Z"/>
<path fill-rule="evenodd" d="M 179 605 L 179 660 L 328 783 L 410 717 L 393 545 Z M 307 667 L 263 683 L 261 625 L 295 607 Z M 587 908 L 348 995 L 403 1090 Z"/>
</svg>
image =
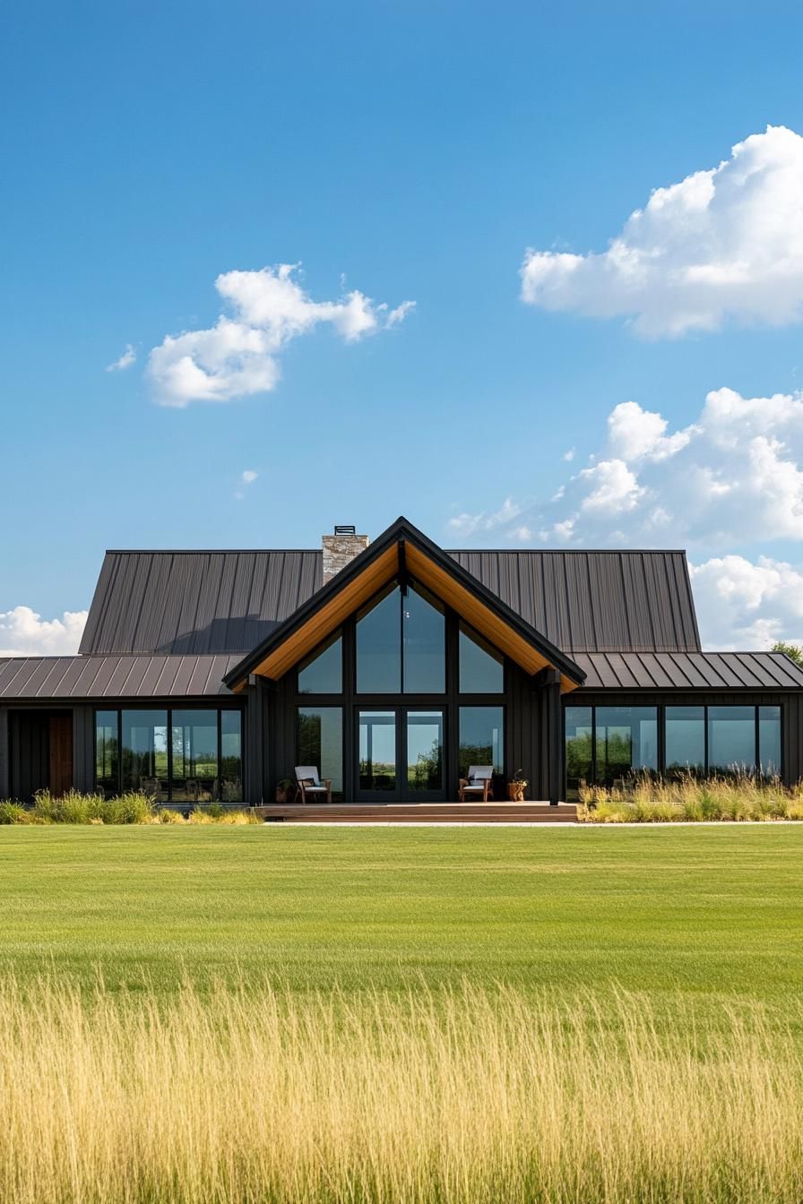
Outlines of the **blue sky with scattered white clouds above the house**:
<svg viewBox="0 0 803 1204">
<path fill-rule="evenodd" d="M 312 547 L 398 513 L 453 547 L 689 547 L 709 644 L 803 637 L 803 177 L 795 135 L 772 171 L 769 143 L 731 158 L 803 134 L 802 43 L 793 4 L 8 6 L 0 650 L 69 650 L 105 548 Z M 756 205 L 725 196 L 703 240 L 742 273 L 714 317 L 709 289 L 668 329 L 701 252 L 675 218 L 630 312 L 585 260 L 538 260 L 522 299 L 527 248 L 602 254 L 653 190 L 725 161 L 725 195 L 750 155 Z M 278 264 L 290 334 L 243 317 L 265 277 L 228 275 Z M 220 314 L 267 340 L 273 388 L 165 405 L 152 352 Z M 225 393 L 230 368 L 200 371 Z"/>
</svg>

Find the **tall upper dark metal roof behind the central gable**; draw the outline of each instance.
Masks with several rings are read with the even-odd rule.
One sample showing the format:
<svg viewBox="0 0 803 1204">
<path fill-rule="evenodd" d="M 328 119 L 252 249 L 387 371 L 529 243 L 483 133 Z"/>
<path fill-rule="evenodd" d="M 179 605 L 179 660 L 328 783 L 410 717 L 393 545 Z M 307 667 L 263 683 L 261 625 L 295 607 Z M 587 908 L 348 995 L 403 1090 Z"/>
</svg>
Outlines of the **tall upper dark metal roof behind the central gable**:
<svg viewBox="0 0 803 1204">
<path fill-rule="evenodd" d="M 696 651 L 683 551 L 449 551 L 580 651 Z M 320 551 L 108 551 L 81 653 L 248 653 L 321 588 Z"/>
</svg>

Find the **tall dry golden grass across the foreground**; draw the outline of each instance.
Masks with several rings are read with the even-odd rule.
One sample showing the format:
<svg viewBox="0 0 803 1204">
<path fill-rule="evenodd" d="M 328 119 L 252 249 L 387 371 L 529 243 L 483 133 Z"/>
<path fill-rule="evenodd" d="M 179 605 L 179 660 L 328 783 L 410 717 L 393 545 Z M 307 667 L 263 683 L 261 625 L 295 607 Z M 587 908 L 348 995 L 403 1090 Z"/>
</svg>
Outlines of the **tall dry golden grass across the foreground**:
<svg viewBox="0 0 803 1204">
<path fill-rule="evenodd" d="M 726 1019 L 6 979 L 0 1199 L 798 1204 L 801 1050 L 760 1010 Z"/>
</svg>

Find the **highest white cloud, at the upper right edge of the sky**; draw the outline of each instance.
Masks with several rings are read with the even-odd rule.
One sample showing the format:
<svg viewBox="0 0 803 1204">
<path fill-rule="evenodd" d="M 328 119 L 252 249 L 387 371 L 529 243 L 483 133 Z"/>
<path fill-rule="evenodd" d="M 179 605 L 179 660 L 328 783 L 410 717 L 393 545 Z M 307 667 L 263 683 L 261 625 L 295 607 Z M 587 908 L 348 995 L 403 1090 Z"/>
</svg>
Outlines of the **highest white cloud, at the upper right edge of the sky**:
<svg viewBox="0 0 803 1204">
<path fill-rule="evenodd" d="M 527 250 L 521 296 L 545 309 L 632 318 L 645 337 L 728 318 L 803 318 L 803 137 L 768 126 L 718 167 L 657 188 L 607 250 Z"/>
</svg>

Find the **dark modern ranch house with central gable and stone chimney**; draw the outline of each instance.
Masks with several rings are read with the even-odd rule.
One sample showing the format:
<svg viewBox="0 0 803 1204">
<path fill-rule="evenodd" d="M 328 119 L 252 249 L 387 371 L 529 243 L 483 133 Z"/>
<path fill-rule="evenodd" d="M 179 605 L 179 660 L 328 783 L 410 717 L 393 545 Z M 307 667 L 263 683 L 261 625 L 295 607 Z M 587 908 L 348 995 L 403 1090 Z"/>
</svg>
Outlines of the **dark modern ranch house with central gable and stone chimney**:
<svg viewBox="0 0 803 1204">
<path fill-rule="evenodd" d="M 0 798 L 533 803 L 633 771 L 803 775 L 803 671 L 703 651 L 683 551 L 108 551 L 77 656 L 0 660 Z M 297 802 L 297 799 L 296 799 Z M 490 799 L 486 801 L 490 805 Z M 277 813 L 278 818 L 278 813 Z"/>
</svg>

